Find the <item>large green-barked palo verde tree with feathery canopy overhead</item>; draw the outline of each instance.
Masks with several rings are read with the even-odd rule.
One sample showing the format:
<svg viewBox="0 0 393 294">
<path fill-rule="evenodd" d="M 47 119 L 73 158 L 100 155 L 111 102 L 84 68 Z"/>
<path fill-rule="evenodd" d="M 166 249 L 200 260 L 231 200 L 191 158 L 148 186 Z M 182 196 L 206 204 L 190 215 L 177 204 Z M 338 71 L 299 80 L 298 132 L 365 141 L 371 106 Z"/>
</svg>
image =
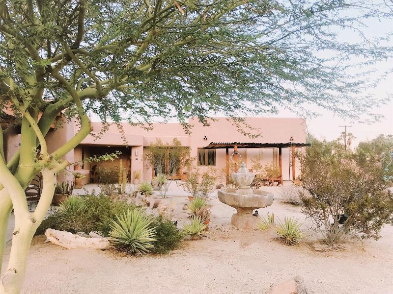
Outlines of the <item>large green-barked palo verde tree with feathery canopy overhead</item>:
<svg viewBox="0 0 393 294">
<path fill-rule="evenodd" d="M 391 17 L 383 0 L 0 0 L 0 110 L 21 125 L 11 159 L 0 132 L 0 264 L 15 212 L 0 293 L 21 290 L 30 241 L 69 164 L 62 157 L 90 132 L 86 113 L 133 124 L 177 117 L 190 129 L 190 117 L 239 124 L 244 113 L 315 103 L 356 119 L 380 101 L 361 97 L 370 84 L 348 75 L 351 57 L 370 65 L 392 55 L 385 36 L 366 38 L 363 21 Z M 337 41 L 342 30 L 357 38 Z M 48 152 L 59 112 L 80 129 Z M 42 196 L 29 212 L 24 189 L 38 173 Z"/>
</svg>

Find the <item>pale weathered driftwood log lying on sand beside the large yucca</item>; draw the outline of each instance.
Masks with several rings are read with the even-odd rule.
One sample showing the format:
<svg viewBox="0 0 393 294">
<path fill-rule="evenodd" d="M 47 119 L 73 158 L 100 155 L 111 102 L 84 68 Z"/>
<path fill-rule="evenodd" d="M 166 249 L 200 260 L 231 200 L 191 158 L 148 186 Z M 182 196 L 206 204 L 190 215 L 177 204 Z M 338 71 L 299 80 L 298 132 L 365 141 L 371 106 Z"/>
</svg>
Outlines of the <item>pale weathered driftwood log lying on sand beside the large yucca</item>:
<svg viewBox="0 0 393 294">
<path fill-rule="evenodd" d="M 85 238 L 67 231 L 47 229 L 45 236 L 56 245 L 67 249 L 88 248 L 88 249 L 107 249 L 110 247 L 108 238 Z"/>
</svg>

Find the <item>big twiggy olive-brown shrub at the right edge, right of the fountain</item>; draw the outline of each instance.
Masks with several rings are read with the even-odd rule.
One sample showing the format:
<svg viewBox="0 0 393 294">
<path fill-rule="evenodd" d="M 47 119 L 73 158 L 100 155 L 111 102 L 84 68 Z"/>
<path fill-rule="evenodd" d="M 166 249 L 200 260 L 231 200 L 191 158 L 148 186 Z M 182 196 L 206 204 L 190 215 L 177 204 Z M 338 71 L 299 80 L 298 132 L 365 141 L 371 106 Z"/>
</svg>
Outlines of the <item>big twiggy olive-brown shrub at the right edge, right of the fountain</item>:
<svg viewBox="0 0 393 294">
<path fill-rule="evenodd" d="M 379 238 L 381 227 L 393 221 L 393 137 L 380 136 L 354 151 L 338 142 L 313 140 L 300 158 L 301 180 L 309 191 L 303 212 L 336 246 L 350 232 Z"/>
</svg>

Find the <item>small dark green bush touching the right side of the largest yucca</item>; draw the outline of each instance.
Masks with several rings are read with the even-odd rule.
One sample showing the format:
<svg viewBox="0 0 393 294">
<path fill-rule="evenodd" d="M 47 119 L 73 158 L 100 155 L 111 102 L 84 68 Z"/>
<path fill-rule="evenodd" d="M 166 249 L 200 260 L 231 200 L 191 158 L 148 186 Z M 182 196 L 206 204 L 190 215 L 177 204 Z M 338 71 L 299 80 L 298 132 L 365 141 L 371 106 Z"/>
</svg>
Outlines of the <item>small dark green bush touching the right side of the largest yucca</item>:
<svg viewBox="0 0 393 294">
<path fill-rule="evenodd" d="M 157 217 L 153 219 L 151 226 L 156 228 L 154 238 L 157 239 L 151 248 L 152 253 L 165 254 L 180 245 L 183 234 L 173 221 Z"/>
</svg>

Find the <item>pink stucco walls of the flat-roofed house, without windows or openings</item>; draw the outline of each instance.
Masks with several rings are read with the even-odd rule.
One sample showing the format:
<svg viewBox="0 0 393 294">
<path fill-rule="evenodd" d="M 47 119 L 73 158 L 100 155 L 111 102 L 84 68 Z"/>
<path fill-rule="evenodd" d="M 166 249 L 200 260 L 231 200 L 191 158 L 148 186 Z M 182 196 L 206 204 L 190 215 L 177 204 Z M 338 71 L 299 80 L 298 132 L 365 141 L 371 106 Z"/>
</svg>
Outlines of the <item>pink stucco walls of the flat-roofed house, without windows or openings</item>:
<svg viewBox="0 0 393 294">
<path fill-rule="evenodd" d="M 255 143 L 288 143 L 290 137 L 294 138 L 296 143 L 306 143 L 306 123 L 301 118 L 247 118 L 246 125 L 241 128 L 246 132 L 259 135 L 257 138 L 250 138 L 239 132 L 238 128 L 232 121 L 226 118 L 216 118 L 211 121 L 210 125 L 203 126 L 196 120 L 190 120 L 193 126 L 191 135 L 185 133 L 179 123 L 154 123 L 151 130 L 145 130 L 140 126 L 132 126 L 123 123 L 123 134 L 120 135 L 116 125 L 111 125 L 109 130 L 99 139 L 88 136 L 82 142 L 82 145 L 101 145 L 101 146 L 132 146 L 132 164 L 131 169 L 140 170 L 141 180 L 149 180 L 152 177 L 152 171 L 147 170 L 142 162 L 143 146 L 155 142 L 157 139 L 163 142 L 171 142 L 174 138 L 178 139 L 183 146 L 190 147 L 191 155 L 197 156 L 197 148 L 205 147 L 210 142 L 255 142 Z M 102 128 L 102 123 L 92 123 L 93 132 L 98 133 Z M 204 137 L 207 138 L 204 139 Z M 274 148 L 263 149 L 239 149 L 243 160 L 251 167 L 251 160 L 254 156 L 262 156 L 262 165 L 274 163 L 277 161 L 277 150 Z M 135 156 L 135 150 L 138 150 L 138 156 Z M 229 150 L 231 153 L 232 150 Z M 283 179 L 290 180 L 291 171 L 289 163 L 289 149 L 282 149 L 282 167 Z M 202 171 L 209 167 L 199 167 Z M 225 169 L 225 149 L 216 150 L 216 165 L 213 167 L 217 172 Z M 297 168 L 297 174 L 299 170 Z"/>
</svg>

